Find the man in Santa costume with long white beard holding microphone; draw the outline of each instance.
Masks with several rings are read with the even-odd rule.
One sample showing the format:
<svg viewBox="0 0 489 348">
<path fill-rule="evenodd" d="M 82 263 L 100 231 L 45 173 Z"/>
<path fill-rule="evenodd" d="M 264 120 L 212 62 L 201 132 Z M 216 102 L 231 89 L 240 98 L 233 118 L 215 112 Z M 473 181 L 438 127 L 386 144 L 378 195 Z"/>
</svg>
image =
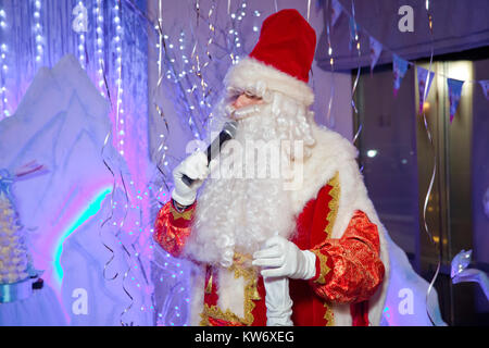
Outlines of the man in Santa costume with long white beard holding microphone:
<svg viewBox="0 0 489 348">
<path fill-rule="evenodd" d="M 154 239 L 196 265 L 192 325 L 379 324 L 386 232 L 356 149 L 317 126 L 309 110 L 315 45 L 296 10 L 267 17 L 253 51 L 225 78 L 225 117 L 238 127 L 222 153 L 234 156 L 208 163 L 197 151 L 173 172 Z M 278 145 L 274 154 L 250 150 L 271 141 Z M 279 175 L 272 175 L 277 165 Z"/>
</svg>

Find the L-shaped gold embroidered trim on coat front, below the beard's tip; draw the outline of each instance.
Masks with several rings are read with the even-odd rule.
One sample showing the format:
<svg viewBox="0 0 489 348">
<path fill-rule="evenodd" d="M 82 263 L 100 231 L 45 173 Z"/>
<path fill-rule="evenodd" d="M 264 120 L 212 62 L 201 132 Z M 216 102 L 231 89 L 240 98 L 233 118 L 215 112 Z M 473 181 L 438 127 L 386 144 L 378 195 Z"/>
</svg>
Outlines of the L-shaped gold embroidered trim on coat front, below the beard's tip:
<svg viewBox="0 0 489 348">
<path fill-rule="evenodd" d="M 258 271 L 255 268 L 244 268 L 242 264 L 246 263 L 247 260 L 251 260 L 251 257 L 236 253 L 234 263 L 229 268 L 229 271 L 235 272 L 235 278 L 244 278 L 244 316 L 239 318 L 229 309 L 224 312 L 217 306 L 208 306 L 204 303 L 203 312 L 200 314 L 202 318 L 202 321 L 200 322 L 201 326 L 210 326 L 209 316 L 228 322 L 241 323 L 248 326 L 253 323 L 254 316 L 252 311 L 255 306 L 253 300 L 260 300 L 261 297 L 256 288 Z"/>
</svg>

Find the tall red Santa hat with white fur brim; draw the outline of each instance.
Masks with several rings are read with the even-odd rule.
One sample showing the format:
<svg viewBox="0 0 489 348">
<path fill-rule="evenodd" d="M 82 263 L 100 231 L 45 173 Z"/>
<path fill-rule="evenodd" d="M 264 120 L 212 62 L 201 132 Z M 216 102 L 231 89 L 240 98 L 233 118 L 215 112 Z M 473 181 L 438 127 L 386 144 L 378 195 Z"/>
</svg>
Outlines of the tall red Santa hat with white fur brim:
<svg viewBox="0 0 489 348">
<path fill-rule="evenodd" d="M 309 107 L 314 101 L 308 82 L 315 47 L 316 34 L 302 15 L 281 10 L 263 22 L 253 51 L 229 70 L 225 85 L 259 97 L 279 91 Z"/>
</svg>

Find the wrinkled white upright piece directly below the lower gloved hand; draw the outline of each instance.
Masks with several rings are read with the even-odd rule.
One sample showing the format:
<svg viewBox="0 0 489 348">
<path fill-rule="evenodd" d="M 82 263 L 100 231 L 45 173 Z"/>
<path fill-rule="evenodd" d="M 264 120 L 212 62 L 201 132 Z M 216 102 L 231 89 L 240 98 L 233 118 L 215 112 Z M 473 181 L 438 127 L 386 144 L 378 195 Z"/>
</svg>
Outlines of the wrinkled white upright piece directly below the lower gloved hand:
<svg viewBox="0 0 489 348">
<path fill-rule="evenodd" d="M 289 279 L 264 277 L 266 326 L 292 326 L 292 300 L 289 295 Z"/>
</svg>

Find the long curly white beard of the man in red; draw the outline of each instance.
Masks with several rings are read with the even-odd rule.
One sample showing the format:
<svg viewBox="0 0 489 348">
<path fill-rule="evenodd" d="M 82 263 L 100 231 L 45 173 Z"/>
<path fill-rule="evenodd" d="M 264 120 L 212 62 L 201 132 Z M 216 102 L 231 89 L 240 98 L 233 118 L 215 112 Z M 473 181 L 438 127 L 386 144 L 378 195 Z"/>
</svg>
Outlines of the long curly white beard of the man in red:
<svg viewBox="0 0 489 348">
<path fill-rule="evenodd" d="M 288 116 L 284 122 L 285 117 L 273 115 L 271 104 L 250 110 L 250 114 L 239 121 L 235 137 L 235 145 L 240 145 L 244 152 L 248 140 L 293 141 L 305 138 L 306 146 L 314 142 L 308 138 L 310 134 L 297 133 L 299 125 L 296 117 Z M 305 117 L 299 119 L 305 122 Z M 304 128 L 303 124 L 300 126 Z M 308 126 L 309 124 L 305 128 Z M 226 144 L 222 154 L 229 149 L 229 142 L 231 141 Z M 281 156 L 290 159 L 290 154 L 285 152 Z M 222 165 L 225 162 L 223 158 L 225 157 L 221 158 Z M 239 159 L 242 158 L 241 156 Z M 296 231 L 296 219 L 290 204 L 290 191 L 284 189 L 284 178 L 281 175 L 271 175 L 274 163 L 271 164 L 268 158 L 254 157 L 254 163 L 251 164 L 256 169 L 265 166 L 266 175 L 250 178 L 244 173 L 248 169 L 242 165 L 242 176 L 213 178 L 215 175 L 212 173 L 218 170 L 218 165 L 211 165 L 213 170 L 200 192 L 185 254 L 197 261 L 228 268 L 233 264 L 235 252 L 252 256 L 272 236 L 291 237 Z M 247 162 L 247 165 L 250 163 Z"/>
</svg>

